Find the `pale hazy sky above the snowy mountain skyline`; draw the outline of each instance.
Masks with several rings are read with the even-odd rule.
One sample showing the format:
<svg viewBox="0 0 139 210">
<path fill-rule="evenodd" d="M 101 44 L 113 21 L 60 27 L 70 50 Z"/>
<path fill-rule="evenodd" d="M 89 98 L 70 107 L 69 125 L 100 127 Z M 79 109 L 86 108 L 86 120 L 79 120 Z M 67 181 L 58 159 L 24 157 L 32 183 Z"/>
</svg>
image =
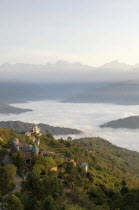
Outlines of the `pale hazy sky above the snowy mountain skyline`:
<svg viewBox="0 0 139 210">
<path fill-rule="evenodd" d="M 0 63 L 139 62 L 138 0 L 0 0 Z"/>
</svg>

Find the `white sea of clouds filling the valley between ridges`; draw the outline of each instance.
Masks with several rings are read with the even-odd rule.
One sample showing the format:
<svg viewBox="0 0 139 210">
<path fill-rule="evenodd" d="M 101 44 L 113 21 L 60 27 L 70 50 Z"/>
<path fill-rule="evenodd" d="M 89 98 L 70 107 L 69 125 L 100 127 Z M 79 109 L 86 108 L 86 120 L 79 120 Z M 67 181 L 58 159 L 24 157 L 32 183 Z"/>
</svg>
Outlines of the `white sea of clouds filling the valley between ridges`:
<svg viewBox="0 0 139 210">
<path fill-rule="evenodd" d="M 77 128 L 84 137 L 102 137 L 111 143 L 130 150 L 139 151 L 139 129 L 99 128 L 108 121 L 139 114 L 138 106 L 114 104 L 60 103 L 57 101 L 33 101 L 12 104 L 19 108 L 30 108 L 32 112 L 19 115 L 0 115 L 0 120 L 21 120 L 24 122 L 45 123 L 52 126 Z M 73 138 L 80 136 L 71 135 Z M 67 136 L 57 136 L 57 138 Z"/>
</svg>

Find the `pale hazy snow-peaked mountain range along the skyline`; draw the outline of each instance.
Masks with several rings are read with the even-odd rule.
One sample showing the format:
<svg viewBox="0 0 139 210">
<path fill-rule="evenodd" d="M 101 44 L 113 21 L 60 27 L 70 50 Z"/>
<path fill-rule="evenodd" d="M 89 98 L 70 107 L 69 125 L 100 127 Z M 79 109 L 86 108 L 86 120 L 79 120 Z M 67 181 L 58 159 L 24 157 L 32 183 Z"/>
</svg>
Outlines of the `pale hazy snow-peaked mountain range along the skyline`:
<svg viewBox="0 0 139 210">
<path fill-rule="evenodd" d="M 128 65 L 112 61 L 102 66 L 92 67 L 80 63 L 57 61 L 42 64 L 0 65 L 0 81 L 28 83 L 88 83 L 117 82 L 139 78 L 139 64 Z"/>
</svg>

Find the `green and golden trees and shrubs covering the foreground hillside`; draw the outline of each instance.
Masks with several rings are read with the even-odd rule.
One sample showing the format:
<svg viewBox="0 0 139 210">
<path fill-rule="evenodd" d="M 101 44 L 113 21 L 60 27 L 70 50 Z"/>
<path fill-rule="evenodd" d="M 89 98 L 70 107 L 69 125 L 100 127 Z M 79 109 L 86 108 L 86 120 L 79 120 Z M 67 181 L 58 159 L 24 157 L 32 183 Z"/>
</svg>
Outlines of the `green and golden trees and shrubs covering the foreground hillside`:
<svg viewBox="0 0 139 210">
<path fill-rule="evenodd" d="M 7 152 L 14 137 L 31 144 L 28 137 L 14 131 L 0 129 L 1 151 Z M 1 187 L 2 205 L 18 200 L 18 209 L 50 210 L 138 210 L 139 209 L 139 153 L 119 148 L 101 138 L 83 138 L 74 141 L 54 139 L 52 135 L 40 137 L 42 149 L 53 151 L 53 156 L 34 157 L 32 163 L 13 164 L 17 173 L 26 174 L 22 191 L 15 197 L 4 198 L 6 188 Z M 19 157 L 19 156 L 18 156 Z M 65 158 L 74 158 L 76 166 L 65 165 Z M 81 163 L 89 165 L 85 173 Z M 19 163 L 19 162 L 18 162 Z M 50 171 L 57 166 L 58 171 Z M 5 182 L 5 166 L 1 165 L 0 186 Z M 26 172 L 25 172 L 26 171 Z M 8 178 L 7 178 L 8 179 Z M 3 186 L 3 185 L 2 185 Z M 10 191 L 10 187 L 8 188 Z M 13 196 L 13 195 L 12 195 Z M 14 200 L 14 201 L 13 201 Z M 16 201 L 15 201 L 16 200 Z M 9 208 L 10 209 L 10 208 Z"/>
</svg>

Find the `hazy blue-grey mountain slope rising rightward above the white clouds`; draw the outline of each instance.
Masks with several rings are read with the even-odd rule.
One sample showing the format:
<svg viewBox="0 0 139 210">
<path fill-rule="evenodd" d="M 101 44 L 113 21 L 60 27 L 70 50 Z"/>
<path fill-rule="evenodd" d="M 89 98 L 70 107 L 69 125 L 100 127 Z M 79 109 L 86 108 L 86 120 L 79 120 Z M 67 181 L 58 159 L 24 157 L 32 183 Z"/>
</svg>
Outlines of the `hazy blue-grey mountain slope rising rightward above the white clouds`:
<svg viewBox="0 0 139 210">
<path fill-rule="evenodd" d="M 88 89 L 69 97 L 63 102 L 72 103 L 112 103 L 121 105 L 139 104 L 139 81 L 127 81 Z"/>
</svg>

